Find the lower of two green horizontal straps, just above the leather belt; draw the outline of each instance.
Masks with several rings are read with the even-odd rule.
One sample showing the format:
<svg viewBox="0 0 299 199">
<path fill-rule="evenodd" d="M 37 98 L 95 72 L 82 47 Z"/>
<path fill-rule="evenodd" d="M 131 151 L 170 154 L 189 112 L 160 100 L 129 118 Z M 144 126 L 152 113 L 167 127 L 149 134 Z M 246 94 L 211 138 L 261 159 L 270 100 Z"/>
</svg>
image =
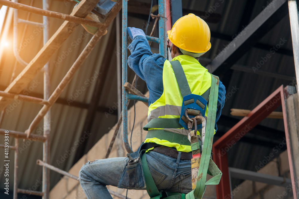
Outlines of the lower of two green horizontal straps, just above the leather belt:
<svg viewBox="0 0 299 199">
<path fill-rule="evenodd" d="M 182 135 L 175 132 L 164 131 L 162 129 L 152 129 L 147 132 L 145 139 L 147 138 L 159 138 L 160 140 L 167 140 L 169 142 L 174 142 L 182 145 L 190 146 L 190 141 L 187 135 Z"/>
</svg>

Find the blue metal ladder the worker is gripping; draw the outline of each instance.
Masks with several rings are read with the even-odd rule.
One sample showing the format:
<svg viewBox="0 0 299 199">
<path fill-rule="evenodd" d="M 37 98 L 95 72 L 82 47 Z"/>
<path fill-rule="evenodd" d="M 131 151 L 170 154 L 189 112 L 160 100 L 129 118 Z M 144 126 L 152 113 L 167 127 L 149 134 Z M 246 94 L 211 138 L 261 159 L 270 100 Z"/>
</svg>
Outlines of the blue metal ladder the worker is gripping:
<svg viewBox="0 0 299 199">
<path fill-rule="evenodd" d="M 158 0 L 158 13 L 159 13 L 159 38 L 146 36 L 148 41 L 152 41 L 159 44 L 159 53 L 164 57 L 167 57 L 166 49 L 166 2 Z M 124 86 L 127 79 L 127 27 L 128 27 L 128 0 L 123 0 L 123 14 L 122 14 L 122 85 Z M 134 88 L 135 89 L 135 88 Z M 123 143 L 128 153 L 132 153 L 132 149 L 128 141 L 128 100 L 138 100 L 148 102 L 148 98 L 133 95 L 122 87 L 122 122 L 123 122 Z"/>
</svg>

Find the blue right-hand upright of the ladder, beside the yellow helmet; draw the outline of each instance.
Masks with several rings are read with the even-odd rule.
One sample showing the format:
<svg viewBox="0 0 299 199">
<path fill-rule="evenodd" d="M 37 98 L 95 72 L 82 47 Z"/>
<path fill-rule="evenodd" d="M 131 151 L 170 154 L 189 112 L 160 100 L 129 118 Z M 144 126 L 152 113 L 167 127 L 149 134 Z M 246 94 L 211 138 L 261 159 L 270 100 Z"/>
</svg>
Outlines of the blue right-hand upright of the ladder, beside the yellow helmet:
<svg viewBox="0 0 299 199">
<path fill-rule="evenodd" d="M 166 51 L 166 2 L 164 0 L 158 1 L 159 6 L 159 53 L 163 55 L 163 57 L 167 58 Z"/>
</svg>

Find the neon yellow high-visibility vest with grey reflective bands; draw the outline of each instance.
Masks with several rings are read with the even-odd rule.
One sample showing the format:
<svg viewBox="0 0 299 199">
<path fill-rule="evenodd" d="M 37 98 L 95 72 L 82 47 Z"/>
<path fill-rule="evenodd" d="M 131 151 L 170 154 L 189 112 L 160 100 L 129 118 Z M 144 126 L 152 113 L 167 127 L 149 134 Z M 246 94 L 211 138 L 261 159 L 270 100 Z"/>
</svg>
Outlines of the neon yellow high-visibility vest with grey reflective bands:
<svg viewBox="0 0 299 199">
<path fill-rule="evenodd" d="M 211 87 L 211 74 L 199 62 L 188 55 L 179 55 L 173 58 L 172 61 L 178 60 L 186 75 L 192 94 L 202 95 Z M 180 118 L 181 106 L 183 98 L 179 90 L 179 85 L 176 76 L 173 72 L 170 61 L 166 60 L 163 66 L 163 93 L 161 97 L 150 104 L 148 110 L 148 122 L 153 118 Z M 205 116 L 208 115 L 208 107 L 206 108 Z M 152 130 L 154 128 L 149 128 Z M 184 128 L 180 129 L 163 129 L 164 131 L 174 132 L 181 135 L 188 135 L 189 131 Z M 215 131 L 214 131 L 215 132 Z M 199 135 L 199 132 L 197 132 Z M 190 145 L 183 145 L 159 138 L 146 138 L 144 142 L 155 142 L 168 147 L 176 147 L 178 151 L 190 152 Z"/>
</svg>

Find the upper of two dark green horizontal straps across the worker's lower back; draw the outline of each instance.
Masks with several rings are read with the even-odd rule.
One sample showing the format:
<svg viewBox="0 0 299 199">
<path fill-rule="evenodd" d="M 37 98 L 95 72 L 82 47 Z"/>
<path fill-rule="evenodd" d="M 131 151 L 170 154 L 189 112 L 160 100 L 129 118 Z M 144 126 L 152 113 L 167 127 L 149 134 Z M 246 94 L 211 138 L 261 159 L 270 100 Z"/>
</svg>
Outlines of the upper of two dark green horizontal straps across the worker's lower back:
<svg viewBox="0 0 299 199">
<path fill-rule="evenodd" d="M 148 131 L 149 128 L 156 129 L 180 129 L 183 128 L 179 123 L 180 118 L 153 118 L 147 125 L 143 127 L 145 131 Z"/>
</svg>

